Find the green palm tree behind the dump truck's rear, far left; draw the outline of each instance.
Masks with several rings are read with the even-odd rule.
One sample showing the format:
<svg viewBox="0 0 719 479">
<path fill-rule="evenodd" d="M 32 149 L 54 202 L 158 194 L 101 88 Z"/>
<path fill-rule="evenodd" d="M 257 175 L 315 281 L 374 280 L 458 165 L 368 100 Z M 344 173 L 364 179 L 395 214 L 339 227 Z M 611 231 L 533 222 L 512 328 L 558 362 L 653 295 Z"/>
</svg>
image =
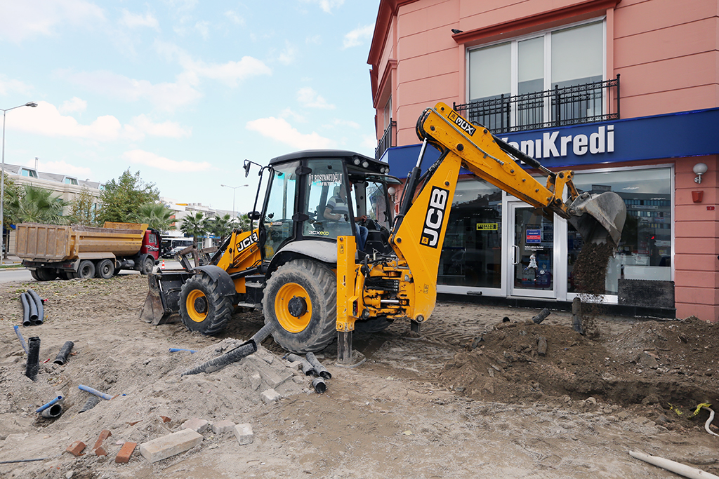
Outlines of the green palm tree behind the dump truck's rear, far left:
<svg viewBox="0 0 719 479">
<path fill-rule="evenodd" d="M 63 216 L 63 209 L 70 205 L 60 196 L 54 196 L 50 190 L 24 185 L 20 195 L 15 196 L 8 205 L 11 216 L 17 223 L 48 223 L 65 225 L 70 217 Z"/>
</svg>

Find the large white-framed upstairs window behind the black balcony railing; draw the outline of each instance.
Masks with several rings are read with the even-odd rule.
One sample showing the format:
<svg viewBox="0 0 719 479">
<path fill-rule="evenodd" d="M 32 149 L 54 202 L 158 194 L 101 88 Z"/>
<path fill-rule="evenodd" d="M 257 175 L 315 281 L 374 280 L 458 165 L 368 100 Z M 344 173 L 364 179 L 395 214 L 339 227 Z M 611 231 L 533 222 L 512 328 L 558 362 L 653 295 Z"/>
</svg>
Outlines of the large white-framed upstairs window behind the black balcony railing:
<svg viewBox="0 0 719 479">
<path fill-rule="evenodd" d="M 600 20 L 470 50 L 468 98 L 487 105 L 485 111 L 475 113 L 509 123 L 490 126 L 480 119 L 493 129 L 541 125 L 559 119 L 555 118 L 558 114 L 562 119 L 600 115 L 605 100 L 601 90 L 578 93 L 581 98 L 562 98 L 576 111 L 559 113 L 559 99 L 553 105 L 551 96 L 530 94 L 601 82 L 604 45 L 604 21 Z M 523 95 L 520 101 L 510 102 L 510 97 Z"/>
</svg>

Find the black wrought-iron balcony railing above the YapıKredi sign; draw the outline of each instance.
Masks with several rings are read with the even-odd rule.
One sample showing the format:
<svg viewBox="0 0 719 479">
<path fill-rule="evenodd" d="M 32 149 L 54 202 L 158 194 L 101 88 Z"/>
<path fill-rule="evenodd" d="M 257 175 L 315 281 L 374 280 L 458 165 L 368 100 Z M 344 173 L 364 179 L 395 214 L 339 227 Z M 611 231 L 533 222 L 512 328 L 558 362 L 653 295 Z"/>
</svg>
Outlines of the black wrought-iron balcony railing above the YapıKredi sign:
<svg viewBox="0 0 719 479">
<path fill-rule="evenodd" d="M 454 110 L 495 134 L 618 120 L 619 75 L 612 80 L 498 96 Z"/>
</svg>

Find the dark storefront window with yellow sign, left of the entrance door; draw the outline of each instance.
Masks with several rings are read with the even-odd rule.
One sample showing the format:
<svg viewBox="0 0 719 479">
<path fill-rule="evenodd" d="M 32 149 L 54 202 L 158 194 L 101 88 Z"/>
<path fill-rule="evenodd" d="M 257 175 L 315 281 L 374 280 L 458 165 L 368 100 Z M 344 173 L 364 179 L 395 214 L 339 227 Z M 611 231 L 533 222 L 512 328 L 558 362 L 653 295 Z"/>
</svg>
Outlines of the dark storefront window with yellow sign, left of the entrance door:
<svg viewBox="0 0 719 479">
<path fill-rule="evenodd" d="M 439 259 L 439 284 L 499 288 L 502 191 L 477 180 L 457 184 Z"/>
</svg>

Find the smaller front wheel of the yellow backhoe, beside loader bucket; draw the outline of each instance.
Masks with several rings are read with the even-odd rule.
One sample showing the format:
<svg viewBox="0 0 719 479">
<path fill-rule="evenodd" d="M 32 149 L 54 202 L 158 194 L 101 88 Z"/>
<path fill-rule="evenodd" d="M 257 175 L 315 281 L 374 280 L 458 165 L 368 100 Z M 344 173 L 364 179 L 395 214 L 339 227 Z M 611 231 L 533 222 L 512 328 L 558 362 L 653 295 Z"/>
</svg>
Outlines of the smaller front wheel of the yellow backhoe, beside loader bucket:
<svg viewBox="0 0 719 479">
<path fill-rule="evenodd" d="M 224 330 L 232 316 L 232 297 L 221 296 L 219 282 L 206 274 L 196 274 L 187 280 L 180 292 L 180 317 L 188 330 L 203 335 L 216 335 Z"/>
</svg>

